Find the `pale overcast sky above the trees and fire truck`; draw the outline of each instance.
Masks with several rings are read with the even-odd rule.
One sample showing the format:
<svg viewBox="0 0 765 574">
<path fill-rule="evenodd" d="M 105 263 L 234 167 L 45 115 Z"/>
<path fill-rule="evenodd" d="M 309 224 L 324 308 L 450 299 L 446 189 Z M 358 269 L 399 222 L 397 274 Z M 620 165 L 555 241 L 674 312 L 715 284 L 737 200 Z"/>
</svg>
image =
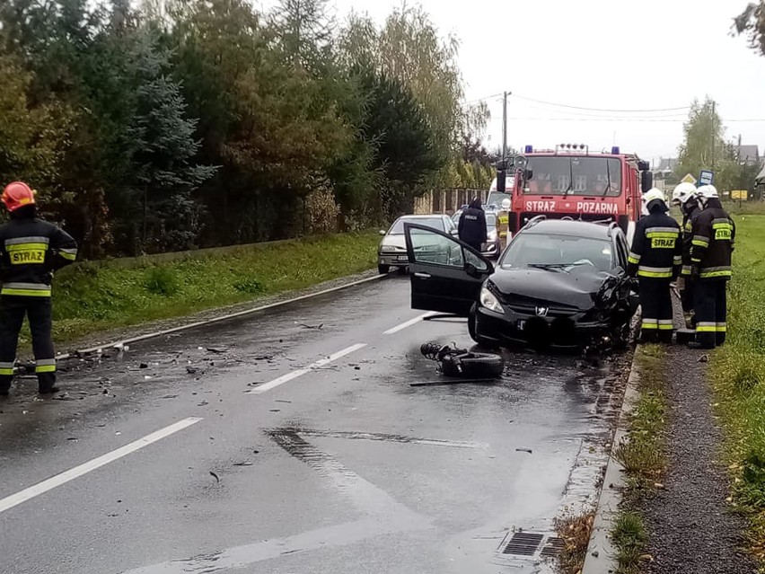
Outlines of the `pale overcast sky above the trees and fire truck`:
<svg viewBox="0 0 765 574">
<path fill-rule="evenodd" d="M 675 156 L 687 110 L 573 110 L 520 99 L 606 110 L 689 106 L 709 94 L 726 136 L 765 146 L 765 57 L 729 35 L 749 0 L 420 0 L 442 34 L 462 41 L 468 101 L 503 91 L 508 144 L 585 143 L 646 159 Z M 400 0 L 333 0 L 382 23 Z M 268 4 L 268 0 L 264 2 Z M 501 98 L 488 98 L 486 138 L 501 142 Z M 594 116 L 594 117 L 593 117 Z M 642 120 L 622 120 L 625 117 Z M 648 121 L 652 119 L 653 121 Z M 745 119 L 748 121 L 734 121 Z M 752 121 L 761 119 L 761 121 Z M 656 121 L 659 120 L 659 121 Z"/>
</svg>

